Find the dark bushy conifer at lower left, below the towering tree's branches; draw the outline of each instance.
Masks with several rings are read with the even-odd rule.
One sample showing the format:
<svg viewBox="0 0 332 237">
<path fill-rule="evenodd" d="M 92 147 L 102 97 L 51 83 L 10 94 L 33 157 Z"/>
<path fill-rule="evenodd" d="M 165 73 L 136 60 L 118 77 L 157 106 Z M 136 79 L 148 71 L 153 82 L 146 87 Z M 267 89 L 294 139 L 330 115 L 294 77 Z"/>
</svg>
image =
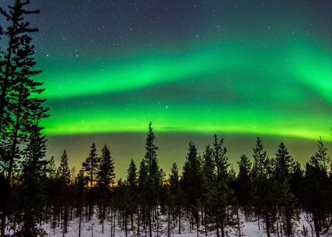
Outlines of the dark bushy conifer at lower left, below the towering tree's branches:
<svg viewBox="0 0 332 237">
<path fill-rule="evenodd" d="M 23 150 L 22 185 L 19 188 L 19 204 L 16 216 L 18 230 L 16 236 L 44 236 L 47 233 L 38 223 L 47 220 L 44 206 L 46 198 L 43 190 L 46 173 L 42 171 L 47 166 L 43 160 L 46 151 L 45 136 L 40 133 L 41 127 L 37 121 L 29 136 L 27 147 Z"/>
</svg>

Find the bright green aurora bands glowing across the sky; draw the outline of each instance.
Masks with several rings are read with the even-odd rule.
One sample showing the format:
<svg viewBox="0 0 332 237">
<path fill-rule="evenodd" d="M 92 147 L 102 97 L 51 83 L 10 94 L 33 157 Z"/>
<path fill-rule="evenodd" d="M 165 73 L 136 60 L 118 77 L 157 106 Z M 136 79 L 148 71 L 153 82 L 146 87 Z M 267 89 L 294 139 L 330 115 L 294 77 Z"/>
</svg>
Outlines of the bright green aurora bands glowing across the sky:
<svg viewBox="0 0 332 237">
<path fill-rule="evenodd" d="M 151 120 L 159 132 L 326 139 L 330 55 L 296 41 L 270 48 L 218 44 L 102 65 L 53 62 L 59 70 L 48 74 L 43 94 L 53 115 L 46 133 L 145 132 Z M 64 70 L 70 78 L 56 80 Z"/>
</svg>

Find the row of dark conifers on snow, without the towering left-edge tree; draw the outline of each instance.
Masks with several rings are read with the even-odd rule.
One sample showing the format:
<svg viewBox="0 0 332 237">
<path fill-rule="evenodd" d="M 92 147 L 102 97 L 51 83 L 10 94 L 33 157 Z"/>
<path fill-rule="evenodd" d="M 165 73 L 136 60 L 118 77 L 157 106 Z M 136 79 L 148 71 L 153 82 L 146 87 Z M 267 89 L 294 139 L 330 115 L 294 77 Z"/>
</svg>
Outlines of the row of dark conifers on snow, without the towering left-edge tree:
<svg viewBox="0 0 332 237">
<path fill-rule="evenodd" d="M 284 143 L 274 157 L 268 157 L 258 138 L 253 161 L 241 155 L 236 174 L 223 139 L 214 135 L 214 143 L 202 154 L 190 142 L 182 174 L 174 163 L 168 176 L 159 168 L 154 139 L 150 122 L 144 158 L 138 167 L 131 160 L 126 179 L 117 183 L 107 145 L 98 155 L 93 144 L 75 177 L 65 150 L 57 168 L 53 157 L 39 161 L 37 176 L 27 178 L 30 173 L 23 165 L 11 180 L 7 233 L 43 235 L 46 232 L 40 226 L 49 221 L 54 231 L 60 228 L 65 236 L 71 221 L 80 236 L 82 226 L 93 216 L 100 220 L 102 233 L 108 221 L 111 236 L 116 235 L 116 227 L 125 236 L 170 236 L 184 233 L 188 222 L 190 231 L 197 234 L 242 236 L 240 215 L 246 221 L 258 220 L 268 236 L 320 236 L 331 230 L 331 163 L 321 139 L 303 170 Z M 299 226 L 300 214 L 310 228 Z M 27 235 L 22 233 L 24 228 L 35 232 Z"/>
</svg>

